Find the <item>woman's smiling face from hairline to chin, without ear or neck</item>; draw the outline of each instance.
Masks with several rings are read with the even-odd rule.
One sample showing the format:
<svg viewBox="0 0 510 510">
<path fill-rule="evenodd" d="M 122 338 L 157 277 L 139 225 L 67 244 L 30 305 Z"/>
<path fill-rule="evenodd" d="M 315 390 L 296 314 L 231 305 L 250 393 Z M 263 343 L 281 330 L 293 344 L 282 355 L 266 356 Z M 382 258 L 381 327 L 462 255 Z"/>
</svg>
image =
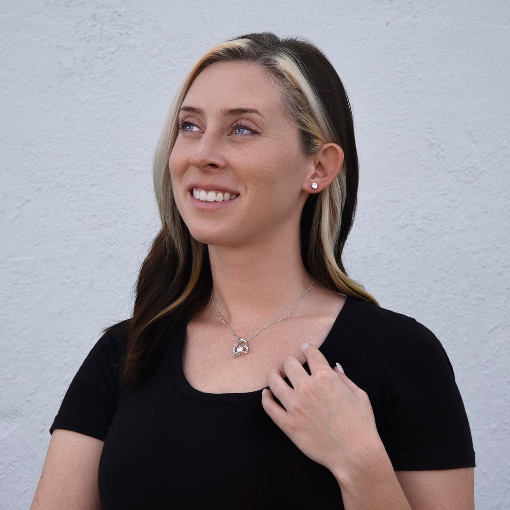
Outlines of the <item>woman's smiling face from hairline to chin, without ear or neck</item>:
<svg viewBox="0 0 510 510">
<path fill-rule="evenodd" d="M 268 236 L 282 240 L 289 228 L 298 228 L 313 157 L 299 148 L 298 130 L 260 68 L 246 62 L 212 64 L 196 77 L 182 106 L 183 125 L 169 169 L 174 199 L 191 235 L 210 245 L 239 246 Z M 223 115 L 233 108 L 260 115 Z M 190 191 L 195 183 L 206 192 L 237 191 L 237 198 L 200 209 Z"/>
</svg>

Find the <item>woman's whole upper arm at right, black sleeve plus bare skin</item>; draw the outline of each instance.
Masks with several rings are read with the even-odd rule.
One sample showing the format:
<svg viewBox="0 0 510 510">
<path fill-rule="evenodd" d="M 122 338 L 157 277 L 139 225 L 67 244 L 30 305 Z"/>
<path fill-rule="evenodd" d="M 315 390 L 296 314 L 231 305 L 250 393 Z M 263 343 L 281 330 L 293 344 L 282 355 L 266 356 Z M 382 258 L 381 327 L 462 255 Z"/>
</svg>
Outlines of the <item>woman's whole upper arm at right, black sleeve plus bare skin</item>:
<svg viewBox="0 0 510 510">
<path fill-rule="evenodd" d="M 415 319 L 405 321 L 379 393 L 378 429 L 413 510 L 473 510 L 475 453 L 448 355 Z"/>
</svg>

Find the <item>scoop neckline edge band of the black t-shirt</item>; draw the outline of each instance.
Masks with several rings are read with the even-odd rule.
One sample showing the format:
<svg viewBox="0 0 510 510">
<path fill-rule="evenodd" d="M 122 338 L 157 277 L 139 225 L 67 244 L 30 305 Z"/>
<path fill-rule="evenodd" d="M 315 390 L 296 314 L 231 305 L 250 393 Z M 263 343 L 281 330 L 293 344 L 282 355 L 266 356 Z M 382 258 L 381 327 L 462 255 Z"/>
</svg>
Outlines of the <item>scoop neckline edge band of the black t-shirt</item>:
<svg viewBox="0 0 510 510">
<path fill-rule="evenodd" d="M 329 330 L 326 338 L 319 346 L 319 351 L 322 354 L 326 354 L 331 350 L 331 348 L 338 341 L 338 335 L 342 333 L 345 324 L 347 323 L 347 317 L 351 310 L 349 305 L 354 304 L 354 298 L 347 296 L 345 303 L 337 315 L 331 329 Z M 207 393 L 190 385 L 188 379 L 184 374 L 183 369 L 183 352 L 184 352 L 184 340 L 186 337 L 186 324 L 180 324 L 176 328 L 176 335 L 172 341 L 170 341 L 171 345 L 171 355 L 170 355 L 170 367 L 169 376 L 173 385 L 179 390 L 182 394 L 191 397 L 196 400 L 206 400 L 209 402 L 216 403 L 227 403 L 227 404 L 238 404 L 238 403 L 247 403 L 254 402 L 260 400 L 262 398 L 262 390 L 264 388 L 269 388 L 268 385 L 264 386 L 264 388 L 260 388 L 259 390 L 241 392 L 241 393 Z M 308 362 L 303 363 L 302 367 L 310 372 L 308 368 Z M 284 377 L 284 380 L 287 384 L 290 384 L 288 377 Z"/>
</svg>

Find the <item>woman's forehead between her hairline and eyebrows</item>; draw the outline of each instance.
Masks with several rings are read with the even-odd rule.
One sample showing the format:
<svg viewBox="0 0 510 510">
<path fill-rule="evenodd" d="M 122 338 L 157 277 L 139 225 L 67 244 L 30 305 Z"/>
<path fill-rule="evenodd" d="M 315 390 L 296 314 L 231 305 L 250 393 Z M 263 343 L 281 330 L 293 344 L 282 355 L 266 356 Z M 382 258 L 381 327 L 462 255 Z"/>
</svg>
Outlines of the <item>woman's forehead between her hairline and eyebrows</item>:
<svg viewBox="0 0 510 510">
<path fill-rule="evenodd" d="M 284 115 L 279 89 L 263 70 L 248 62 L 216 62 L 198 74 L 183 104 L 201 108 L 206 115 L 222 109 L 254 108 L 266 119 Z"/>
</svg>

